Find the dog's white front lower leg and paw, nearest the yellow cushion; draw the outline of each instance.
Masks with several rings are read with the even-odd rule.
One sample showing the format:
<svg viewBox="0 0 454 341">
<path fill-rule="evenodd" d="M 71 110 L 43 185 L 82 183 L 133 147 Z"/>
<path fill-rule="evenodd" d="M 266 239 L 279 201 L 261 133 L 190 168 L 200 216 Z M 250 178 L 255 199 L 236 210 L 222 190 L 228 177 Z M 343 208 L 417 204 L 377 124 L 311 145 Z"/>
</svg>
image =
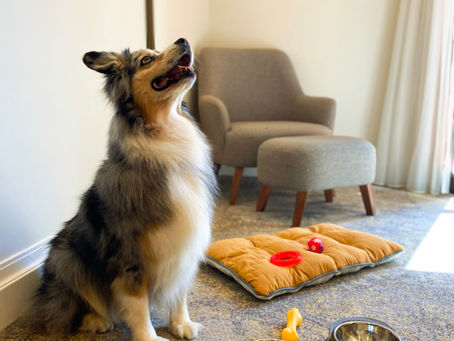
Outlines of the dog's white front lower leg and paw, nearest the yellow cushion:
<svg viewBox="0 0 454 341">
<path fill-rule="evenodd" d="M 184 292 L 177 306 L 170 311 L 170 331 L 182 339 L 193 339 L 202 328 L 200 323 L 192 322 L 189 318 L 187 294 Z"/>
</svg>

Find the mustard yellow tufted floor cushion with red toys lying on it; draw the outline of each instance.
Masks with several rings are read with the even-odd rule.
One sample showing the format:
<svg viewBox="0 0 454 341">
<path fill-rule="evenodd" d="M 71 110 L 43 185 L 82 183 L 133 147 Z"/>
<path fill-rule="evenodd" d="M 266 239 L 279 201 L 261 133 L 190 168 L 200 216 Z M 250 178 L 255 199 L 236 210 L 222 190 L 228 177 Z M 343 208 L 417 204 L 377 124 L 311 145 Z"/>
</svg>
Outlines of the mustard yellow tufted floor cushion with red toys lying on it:
<svg viewBox="0 0 454 341">
<path fill-rule="evenodd" d="M 307 250 L 307 242 L 313 237 L 323 241 L 323 253 Z M 291 267 L 270 263 L 273 254 L 287 250 L 299 251 L 301 262 Z M 233 277 L 255 297 L 269 300 L 388 262 L 402 250 L 399 244 L 378 236 L 324 223 L 274 235 L 220 240 L 209 246 L 207 262 Z"/>
</svg>

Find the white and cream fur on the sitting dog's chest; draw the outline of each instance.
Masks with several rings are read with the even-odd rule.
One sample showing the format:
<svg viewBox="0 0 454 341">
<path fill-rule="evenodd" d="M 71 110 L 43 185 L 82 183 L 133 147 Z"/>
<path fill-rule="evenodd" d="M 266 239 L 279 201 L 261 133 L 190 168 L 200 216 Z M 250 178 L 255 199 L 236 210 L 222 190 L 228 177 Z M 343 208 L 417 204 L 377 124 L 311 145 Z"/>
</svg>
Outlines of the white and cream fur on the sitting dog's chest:
<svg viewBox="0 0 454 341">
<path fill-rule="evenodd" d="M 170 304 L 190 286 L 204 257 L 212 215 L 208 188 L 198 174 L 198 169 L 211 167 L 209 147 L 191 122 L 182 117 L 175 120 L 175 130 L 168 132 L 173 135 L 159 141 L 162 145 L 154 150 L 165 164 L 174 165 L 167 174 L 172 219 L 149 234 L 154 255 L 150 296 L 152 301 Z"/>
</svg>

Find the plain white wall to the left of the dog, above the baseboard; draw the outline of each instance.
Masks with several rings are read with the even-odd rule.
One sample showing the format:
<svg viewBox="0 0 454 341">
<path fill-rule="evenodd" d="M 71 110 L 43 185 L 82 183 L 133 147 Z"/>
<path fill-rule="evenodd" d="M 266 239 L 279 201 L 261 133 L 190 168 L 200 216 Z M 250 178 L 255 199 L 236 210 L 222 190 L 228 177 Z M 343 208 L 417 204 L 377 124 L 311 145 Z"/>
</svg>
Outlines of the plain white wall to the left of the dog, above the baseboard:
<svg viewBox="0 0 454 341">
<path fill-rule="evenodd" d="M 2 268 L 75 213 L 105 155 L 112 114 L 101 75 L 82 56 L 144 47 L 145 3 L 2 1 L 0 41 Z"/>
</svg>

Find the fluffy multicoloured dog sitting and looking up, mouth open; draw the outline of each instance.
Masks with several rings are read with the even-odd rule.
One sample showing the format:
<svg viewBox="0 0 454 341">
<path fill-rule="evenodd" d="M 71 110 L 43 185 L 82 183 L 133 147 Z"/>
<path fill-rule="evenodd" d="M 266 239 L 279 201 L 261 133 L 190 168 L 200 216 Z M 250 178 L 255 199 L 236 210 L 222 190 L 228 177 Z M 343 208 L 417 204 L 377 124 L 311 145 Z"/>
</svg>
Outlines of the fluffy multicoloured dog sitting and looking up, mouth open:
<svg viewBox="0 0 454 341">
<path fill-rule="evenodd" d="M 49 333 L 102 332 L 124 321 L 137 341 L 158 337 L 149 306 L 170 331 L 197 336 L 187 293 L 210 241 L 217 191 L 210 148 L 182 110 L 195 81 L 180 38 L 162 52 L 88 52 L 115 106 L 107 159 L 80 208 L 50 243 L 32 308 Z"/>
</svg>

